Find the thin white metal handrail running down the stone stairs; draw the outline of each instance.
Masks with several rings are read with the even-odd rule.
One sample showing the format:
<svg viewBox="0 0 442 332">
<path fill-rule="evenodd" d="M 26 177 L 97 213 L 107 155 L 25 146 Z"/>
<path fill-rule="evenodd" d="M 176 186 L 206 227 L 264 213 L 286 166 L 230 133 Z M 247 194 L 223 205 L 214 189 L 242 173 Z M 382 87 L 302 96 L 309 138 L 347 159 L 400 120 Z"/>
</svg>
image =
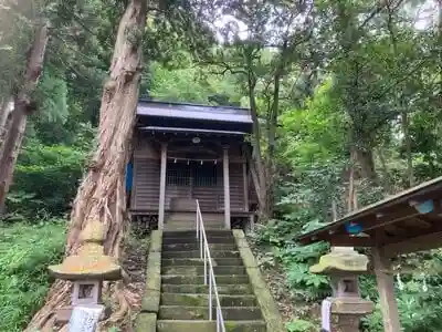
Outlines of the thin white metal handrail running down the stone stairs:
<svg viewBox="0 0 442 332">
<path fill-rule="evenodd" d="M 213 320 L 212 314 L 212 297 L 217 302 L 217 332 L 225 332 L 224 319 L 222 317 L 220 297 L 218 294 L 217 280 L 214 278 L 212 257 L 210 255 L 209 243 L 206 236 L 204 224 L 202 222 L 202 214 L 200 203 L 197 199 L 197 239 L 200 247 L 200 258 L 204 260 L 204 284 L 209 282 L 209 321 Z M 209 280 L 208 280 L 209 279 Z"/>
</svg>

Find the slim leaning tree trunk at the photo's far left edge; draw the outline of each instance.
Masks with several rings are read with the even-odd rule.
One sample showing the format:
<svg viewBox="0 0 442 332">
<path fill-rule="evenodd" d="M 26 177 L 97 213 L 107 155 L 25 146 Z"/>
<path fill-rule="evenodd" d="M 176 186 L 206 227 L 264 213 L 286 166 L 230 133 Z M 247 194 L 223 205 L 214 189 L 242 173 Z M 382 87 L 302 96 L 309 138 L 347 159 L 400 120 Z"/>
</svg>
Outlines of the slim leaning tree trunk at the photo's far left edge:
<svg viewBox="0 0 442 332">
<path fill-rule="evenodd" d="M 34 111 L 32 93 L 39 83 L 43 68 L 49 33 L 48 23 L 42 23 L 35 31 L 33 43 L 28 52 L 28 63 L 23 82 L 13 98 L 14 107 L 4 122 L 4 139 L 0 151 L 0 211 L 3 210 L 6 197 L 12 181 L 12 174 L 19 155 L 27 118 Z"/>
</svg>

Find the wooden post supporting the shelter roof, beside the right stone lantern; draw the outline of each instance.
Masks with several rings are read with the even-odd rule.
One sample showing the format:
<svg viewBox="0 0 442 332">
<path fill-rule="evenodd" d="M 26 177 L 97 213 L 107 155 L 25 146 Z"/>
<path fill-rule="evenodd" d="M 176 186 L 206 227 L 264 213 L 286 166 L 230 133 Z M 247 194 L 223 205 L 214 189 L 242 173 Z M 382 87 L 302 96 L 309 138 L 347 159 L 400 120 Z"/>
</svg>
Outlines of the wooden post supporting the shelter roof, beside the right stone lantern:
<svg viewBox="0 0 442 332">
<path fill-rule="evenodd" d="M 373 268 L 378 283 L 380 310 L 382 312 L 383 331 L 400 332 L 398 302 L 394 298 L 394 279 L 391 271 L 391 260 L 381 248 L 372 248 Z"/>
</svg>

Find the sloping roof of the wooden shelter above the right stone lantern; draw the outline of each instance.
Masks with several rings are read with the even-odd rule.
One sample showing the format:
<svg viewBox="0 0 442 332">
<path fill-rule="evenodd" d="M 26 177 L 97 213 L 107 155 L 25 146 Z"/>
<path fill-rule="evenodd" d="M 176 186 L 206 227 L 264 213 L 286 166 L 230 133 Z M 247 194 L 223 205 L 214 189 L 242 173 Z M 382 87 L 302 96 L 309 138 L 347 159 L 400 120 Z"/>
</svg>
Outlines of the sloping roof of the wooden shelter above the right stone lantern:
<svg viewBox="0 0 442 332">
<path fill-rule="evenodd" d="M 442 177 L 355 210 L 325 227 L 297 238 L 302 245 L 328 241 L 334 246 L 386 247 L 390 255 L 442 246 Z M 432 201 L 431 211 L 419 211 L 417 204 Z M 350 235 L 346 225 L 360 225 Z"/>
</svg>

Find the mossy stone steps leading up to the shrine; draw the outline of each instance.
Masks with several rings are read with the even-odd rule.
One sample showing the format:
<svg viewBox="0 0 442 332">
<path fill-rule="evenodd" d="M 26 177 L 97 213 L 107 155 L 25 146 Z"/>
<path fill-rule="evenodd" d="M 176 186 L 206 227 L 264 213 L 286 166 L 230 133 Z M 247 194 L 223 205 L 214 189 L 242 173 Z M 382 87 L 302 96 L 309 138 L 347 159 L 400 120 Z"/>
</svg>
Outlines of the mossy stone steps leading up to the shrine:
<svg viewBox="0 0 442 332">
<path fill-rule="evenodd" d="M 227 331 L 267 331 L 232 231 L 208 230 L 207 237 Z M 165 231 L 157 332 L 215 332 L 208 302 L 196 231 Z"/>
</svg>

